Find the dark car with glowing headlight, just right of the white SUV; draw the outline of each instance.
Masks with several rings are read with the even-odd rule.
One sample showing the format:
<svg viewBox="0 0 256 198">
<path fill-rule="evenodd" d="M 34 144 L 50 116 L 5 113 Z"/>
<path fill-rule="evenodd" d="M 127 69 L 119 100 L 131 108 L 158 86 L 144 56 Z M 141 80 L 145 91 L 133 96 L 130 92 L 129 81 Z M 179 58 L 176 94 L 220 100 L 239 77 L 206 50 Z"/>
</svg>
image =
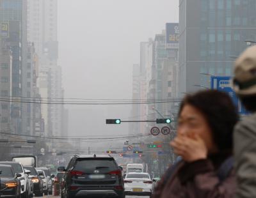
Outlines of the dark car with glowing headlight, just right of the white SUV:
<svg viewBox="0 0 256 198">
<path fill-rule="evenodd" d="M 43 184 L 44 181 L 40 176 L 38 176 L 38 173 L 36 172 L 35 167 L 33 166 L 25 166 L 25 169 L 30 171 L 29 174 L 29 179 L 31 179 L 33 183 L 33 193 L 35 194 L 36 197 L 41 197 L 44 195 L 43 192 Z"/>
</svg>

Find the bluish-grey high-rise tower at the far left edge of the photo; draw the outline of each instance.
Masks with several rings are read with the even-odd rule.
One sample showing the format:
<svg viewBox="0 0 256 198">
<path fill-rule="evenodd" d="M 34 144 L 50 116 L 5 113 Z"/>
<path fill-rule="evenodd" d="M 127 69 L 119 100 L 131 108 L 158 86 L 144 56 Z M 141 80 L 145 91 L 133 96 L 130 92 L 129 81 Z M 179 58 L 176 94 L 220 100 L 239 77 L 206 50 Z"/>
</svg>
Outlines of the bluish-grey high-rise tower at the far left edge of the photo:
<svg viewBox="0 0 256 198">
<path fill-rule="evenodd" d="M 26 90 L 22 90 L 22 81 L 26 74 L 22 72 L 26 66 L 27 55 L 27 1 L 0 0 L 1 40 L 12 51 L 12 93 L 5 96 L 19 99 Z M 12 103 L 12 132 L 22 133 L 22 103 Z"/>
</svg>

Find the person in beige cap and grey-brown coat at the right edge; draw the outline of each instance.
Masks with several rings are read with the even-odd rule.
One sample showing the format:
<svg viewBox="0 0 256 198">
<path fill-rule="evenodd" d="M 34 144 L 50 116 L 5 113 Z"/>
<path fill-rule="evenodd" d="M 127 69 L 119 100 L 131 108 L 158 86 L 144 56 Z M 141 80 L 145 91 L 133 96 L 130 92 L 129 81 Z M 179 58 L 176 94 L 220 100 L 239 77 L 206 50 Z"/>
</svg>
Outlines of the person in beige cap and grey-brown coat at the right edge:
<svg viewBox="0 0 256 198">
<path fill-rule="evenodd" d="M 237 173 L 236 198 L 256 197 L 256 46 L 246 49 L 235 63 L 234 90 L 251 113 L 234 132 Z"/>
</svg>

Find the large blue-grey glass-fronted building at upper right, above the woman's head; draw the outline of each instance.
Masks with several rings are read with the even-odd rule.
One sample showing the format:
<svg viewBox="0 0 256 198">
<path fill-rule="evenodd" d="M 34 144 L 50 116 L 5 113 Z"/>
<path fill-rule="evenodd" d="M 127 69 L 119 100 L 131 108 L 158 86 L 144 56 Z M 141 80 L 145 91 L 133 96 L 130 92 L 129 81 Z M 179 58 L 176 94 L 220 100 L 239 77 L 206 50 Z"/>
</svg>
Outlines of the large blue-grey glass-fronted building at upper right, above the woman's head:
<svg viewBox="0 0 256 198">
<path fill-rule="evenodd" d="M 256 40 L 256 1 L 180 0 L 179 8 L 181 94 L 209 88 L 210 75 L 232 75 L 244 41 Z"/>
</svg>

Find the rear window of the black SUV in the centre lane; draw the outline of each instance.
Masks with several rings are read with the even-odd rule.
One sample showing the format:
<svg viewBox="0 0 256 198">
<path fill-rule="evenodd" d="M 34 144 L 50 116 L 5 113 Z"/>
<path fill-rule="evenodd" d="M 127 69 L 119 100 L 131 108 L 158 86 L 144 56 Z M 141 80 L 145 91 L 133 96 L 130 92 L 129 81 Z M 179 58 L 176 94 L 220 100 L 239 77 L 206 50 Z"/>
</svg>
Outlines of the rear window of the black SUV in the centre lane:
<svg viewBox="0 0 256 198">
<path fill-rule="evenodd" d="M 118 169 L 113 158 L 78 158 L 74 166 L 76 171 L 93 171 L 95 169 L 106 169 L 113 171 Z"/>
</svg>

